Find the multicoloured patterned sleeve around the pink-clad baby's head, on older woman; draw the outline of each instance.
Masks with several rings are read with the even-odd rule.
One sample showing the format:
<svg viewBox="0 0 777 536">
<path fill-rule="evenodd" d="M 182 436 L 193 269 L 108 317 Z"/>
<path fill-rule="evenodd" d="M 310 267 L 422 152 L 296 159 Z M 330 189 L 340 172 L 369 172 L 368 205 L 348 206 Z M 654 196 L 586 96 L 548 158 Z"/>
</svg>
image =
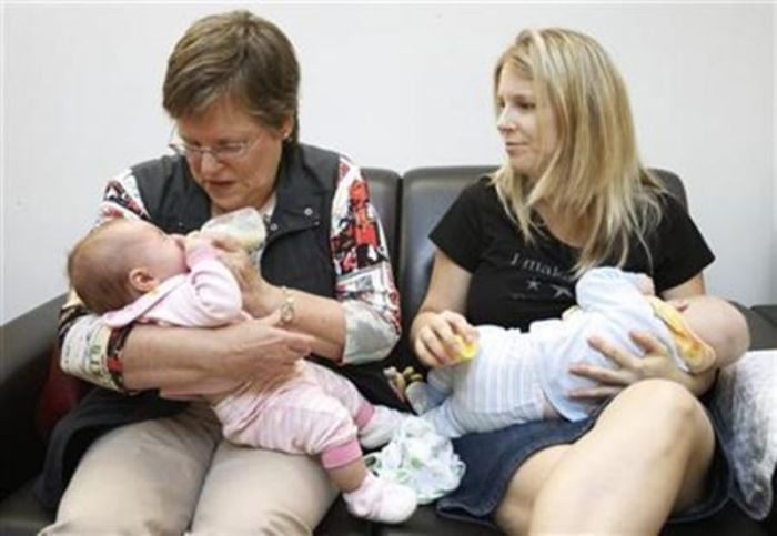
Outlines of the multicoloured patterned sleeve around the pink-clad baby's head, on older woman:
<svg viewBox="0 0 777 536">
<path fill-rule="evenodd" d="M 95 225 L 113 218 L 148 219 L 135 178 L 130 171 L 108 183 Z M 62 370 L 102 387 L 127 391 L 121 351 L 130 330 L 132 324 L 117 330 L 109 328 L 71 292 L 59 317 Z"/>
</svg>

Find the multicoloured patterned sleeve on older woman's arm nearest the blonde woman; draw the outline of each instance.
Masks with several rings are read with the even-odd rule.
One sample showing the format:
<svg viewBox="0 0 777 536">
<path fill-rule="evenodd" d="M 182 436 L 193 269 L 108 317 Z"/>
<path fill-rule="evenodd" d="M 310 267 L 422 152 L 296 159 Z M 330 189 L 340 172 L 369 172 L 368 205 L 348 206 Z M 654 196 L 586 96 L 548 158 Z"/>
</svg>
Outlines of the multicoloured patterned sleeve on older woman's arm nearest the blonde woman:
<svg viewBox="0 0 777 536">
<path fill-rule="evenodd" d="M 345 310 L 342 363 L 382 360 L 400 340 L 400 297 L 367 183 L 345 156 L 340 160 L 331 229 L 335 296 Z"/>
</svg>

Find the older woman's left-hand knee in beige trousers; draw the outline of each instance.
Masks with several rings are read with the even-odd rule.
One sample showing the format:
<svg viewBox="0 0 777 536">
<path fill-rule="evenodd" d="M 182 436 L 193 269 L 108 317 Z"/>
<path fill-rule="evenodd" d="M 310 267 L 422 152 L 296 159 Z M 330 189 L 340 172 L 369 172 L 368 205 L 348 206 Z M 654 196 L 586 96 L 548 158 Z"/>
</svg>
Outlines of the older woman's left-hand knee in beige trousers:
<svg viewBox="0 0 777 536">
<path fill-rule="evenodd" d="M 184 429 L 168 418 L 99 438 L 77 467 L 57 522 L 42 534 L 182 534 L 213 448 L 208 433 L 184 437 Z"/>
</svg>

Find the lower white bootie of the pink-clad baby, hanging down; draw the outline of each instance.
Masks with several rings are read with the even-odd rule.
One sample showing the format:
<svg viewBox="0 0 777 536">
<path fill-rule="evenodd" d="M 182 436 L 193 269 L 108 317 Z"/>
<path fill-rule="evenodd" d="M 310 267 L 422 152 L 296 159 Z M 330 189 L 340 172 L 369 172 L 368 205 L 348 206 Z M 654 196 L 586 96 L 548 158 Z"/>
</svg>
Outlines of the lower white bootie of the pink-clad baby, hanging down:
<svg viewBox="0 0 777 536">
<path fill-rule="evenodd" d="M 361 486 L 343 493 L 343 499 L 354 516 L 379 523 L 402 523 L 413 515 L 418 503 L 412 488 L 370 472 Z"/>
</svg>

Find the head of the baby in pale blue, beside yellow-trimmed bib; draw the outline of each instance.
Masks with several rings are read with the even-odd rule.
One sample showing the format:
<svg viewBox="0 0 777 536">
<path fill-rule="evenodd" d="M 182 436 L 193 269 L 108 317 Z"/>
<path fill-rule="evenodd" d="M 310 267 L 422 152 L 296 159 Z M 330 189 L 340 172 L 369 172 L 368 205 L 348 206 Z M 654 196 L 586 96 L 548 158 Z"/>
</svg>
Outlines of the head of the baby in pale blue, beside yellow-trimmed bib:
<svg viewBox="0 0 777 536">
<path fill-rule="evenodd" d="M 714 351 L 717 363 L 728 363 L 744 354 L 750 344 L 745 316 L 717 296 L 692 296 L 669 301 L 693 332 Z"/>
</svg>

